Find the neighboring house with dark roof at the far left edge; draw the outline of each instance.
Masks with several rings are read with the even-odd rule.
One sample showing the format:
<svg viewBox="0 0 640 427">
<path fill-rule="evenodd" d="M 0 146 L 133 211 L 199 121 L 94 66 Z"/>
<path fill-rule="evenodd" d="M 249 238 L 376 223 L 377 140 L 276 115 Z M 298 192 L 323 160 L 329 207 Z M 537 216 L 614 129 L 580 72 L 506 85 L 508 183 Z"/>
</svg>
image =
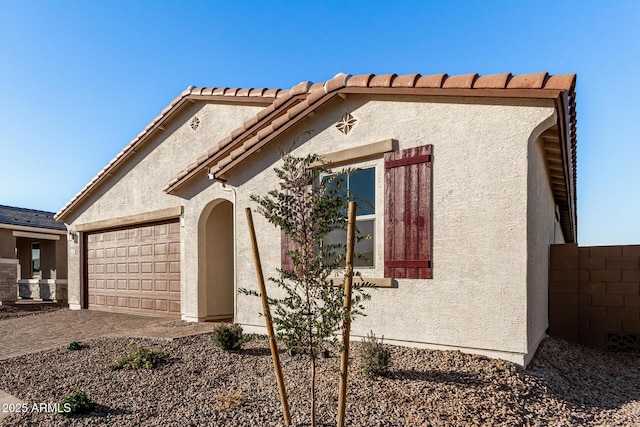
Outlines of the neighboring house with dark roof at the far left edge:
<svg viewBox="0 0 640 427">
<path fill-rule="evenodd" d="M 0 205 L 0 303 L 67 299 L 67 230 L 53 212 Z"/>
</svg>

